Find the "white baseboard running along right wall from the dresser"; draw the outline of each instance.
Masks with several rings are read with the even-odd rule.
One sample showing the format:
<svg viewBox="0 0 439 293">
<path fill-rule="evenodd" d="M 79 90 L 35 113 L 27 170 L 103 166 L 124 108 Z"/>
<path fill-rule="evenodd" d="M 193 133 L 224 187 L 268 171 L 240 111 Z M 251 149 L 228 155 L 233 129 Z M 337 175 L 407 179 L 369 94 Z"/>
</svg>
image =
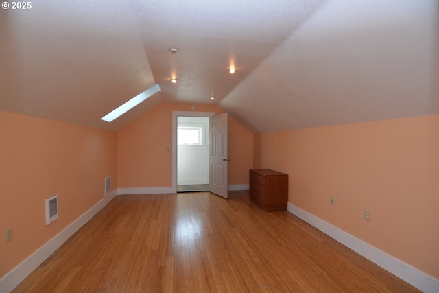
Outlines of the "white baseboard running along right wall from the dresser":
<svg viewBox="0 0 439 293">
<path fill-rule="evenodd" d="M 298 218 L 304 220 L 308 224 L 311 224 L 311 226 L 314 226 L 315 228 L 318 228 L 318 230 L 329 235 L 329 237 L 337 240 L 337 242 L 340 242 L 344 246 L 351 248 L 359 255 L 366 257 L 366 259 L 369 259 L 373 263 L 376 263 L 384 270 L 391 272 L 396 277 L 399 277 L 403 281 L 418 288 L 419 290 L 425 293 L 439 292 L 438 279 L 435 279 L 434 277 L 431 277 L 428 274 L 421 272 L 420 270 L 408 265 L 407 263 L 404 263 L 403 261 L 392 257 L 392 255 L 384 253 L 378 248 L 375 248 L 374 246 L 367 244 L 357 237 L 354 237 L 353 235 L 344 232 L 340 228 L 337 228 L 336 226 L 333 226 L 328 222 L 317 218 L 315 215 L 312 215 L 311 213 L 308 213 L 307 211 L 296 207 L 294 204 L 288 202 L 287 210 L 293 215 L 296 215 Z"/>
</svg>

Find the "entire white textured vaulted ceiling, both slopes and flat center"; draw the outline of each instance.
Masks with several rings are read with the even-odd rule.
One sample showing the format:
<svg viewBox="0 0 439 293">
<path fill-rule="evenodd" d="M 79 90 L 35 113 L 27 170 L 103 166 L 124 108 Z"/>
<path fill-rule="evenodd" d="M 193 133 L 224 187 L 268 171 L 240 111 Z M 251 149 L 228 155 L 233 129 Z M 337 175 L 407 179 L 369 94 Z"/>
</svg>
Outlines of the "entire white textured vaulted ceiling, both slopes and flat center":
<svg viewBox="0 0 439 293">
<path fill-rule="evenodd" d="M 437 0 L 33 1 L 0 10 L 0 109 L 119 130 L 214 103 L 253 132 L 436 114 L 438 16 Z"/>
</svg>

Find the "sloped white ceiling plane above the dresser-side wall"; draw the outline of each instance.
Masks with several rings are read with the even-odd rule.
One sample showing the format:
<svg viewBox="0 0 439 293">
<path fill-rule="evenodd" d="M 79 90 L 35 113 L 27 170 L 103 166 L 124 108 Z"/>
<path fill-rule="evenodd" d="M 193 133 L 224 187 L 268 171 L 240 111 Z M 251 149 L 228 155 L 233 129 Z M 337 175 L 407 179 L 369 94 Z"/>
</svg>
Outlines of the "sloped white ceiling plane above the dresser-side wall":
<svg viewBox="0 0 439 293">
<path fill-rule="evenodd" d="M 328 1 L 220 105 L 255 132 L 439 113 L 438 3 Z"/>
</svg>

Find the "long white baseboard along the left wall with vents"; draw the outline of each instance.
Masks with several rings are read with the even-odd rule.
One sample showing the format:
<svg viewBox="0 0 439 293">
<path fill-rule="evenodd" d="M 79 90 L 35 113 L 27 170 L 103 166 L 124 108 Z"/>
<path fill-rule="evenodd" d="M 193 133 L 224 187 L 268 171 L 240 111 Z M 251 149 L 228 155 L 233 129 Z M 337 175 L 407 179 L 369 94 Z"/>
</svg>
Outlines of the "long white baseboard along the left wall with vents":
<svg viewBox="0 0 439 293">
<path fill-rule="evenodd" d="M 67 241 L 73 234 L 75 234 L 86 222 L 88 222 L 94 215 L 96 215 L 103 207 L 108 204 L 113 198 L 117 196 L 117 191 L 110 192 L 105 198 L 97 202 L 91 209 L 80 215 L 69 226 L 64 228 L 54 238 L 50 239 L 46 244 L 38 248 L 36 252 L 32 253 L 27 259 L 16 266 L 13 270 L 8 272 L 5 277 L 0 279 L 0 292 L 10 292 L 19 283 L 21 283 L 31 272 L 33 272 L 43 261 L 55 252 L 64 242 Z"/>
</svg>

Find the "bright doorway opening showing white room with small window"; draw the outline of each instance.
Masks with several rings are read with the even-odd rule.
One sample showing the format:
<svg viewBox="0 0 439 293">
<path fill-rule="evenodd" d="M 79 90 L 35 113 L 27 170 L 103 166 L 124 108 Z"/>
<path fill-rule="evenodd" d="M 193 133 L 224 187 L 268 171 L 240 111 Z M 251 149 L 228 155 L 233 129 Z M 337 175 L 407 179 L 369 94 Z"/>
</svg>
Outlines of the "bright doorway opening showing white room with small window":
<svg viewBox="0 0 439 293">
<path fill-rule="evenodd" d="M 177 192 L 209 191 L 209 117 L 177 117 Z"/>
</svg>

